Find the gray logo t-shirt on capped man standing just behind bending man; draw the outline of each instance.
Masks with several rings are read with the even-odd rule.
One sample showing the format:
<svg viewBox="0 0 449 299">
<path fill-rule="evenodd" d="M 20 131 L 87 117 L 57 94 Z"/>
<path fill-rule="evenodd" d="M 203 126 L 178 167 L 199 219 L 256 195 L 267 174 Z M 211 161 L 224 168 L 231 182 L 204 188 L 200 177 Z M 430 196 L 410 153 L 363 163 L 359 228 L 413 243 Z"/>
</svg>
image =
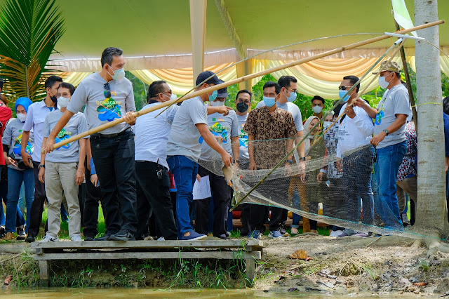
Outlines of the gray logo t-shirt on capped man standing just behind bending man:
<svg viewBox="0 0 449 299">
<path fill-rule="evenodd" d="M 220 144 L 228 154 L 232 155 L 232 137 L 239 136 L 239 119 L 234 110 L 230 110 L 226 116 L 220 113 L 213 113 L 208 115 L 209 131 L 215 135 L 223 138 L 223 142 Z M 222 160 L 220 154 L 215 152 L 202 137 L 199 138 L 201 144 L 201 156 L 199 159 L 204 161 L 216 161 Z M 234 157 L 239 159 L 239 157 Z"/>
</svg>

